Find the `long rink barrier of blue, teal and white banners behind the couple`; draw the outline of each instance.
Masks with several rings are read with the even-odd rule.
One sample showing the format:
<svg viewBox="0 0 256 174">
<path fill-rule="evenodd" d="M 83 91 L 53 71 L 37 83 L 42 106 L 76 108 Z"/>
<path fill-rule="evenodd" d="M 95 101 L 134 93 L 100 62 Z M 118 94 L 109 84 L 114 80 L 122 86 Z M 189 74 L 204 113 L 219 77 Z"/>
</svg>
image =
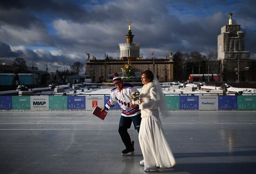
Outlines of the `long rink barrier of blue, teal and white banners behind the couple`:
<svg viewBox="0 0 256 174">
<path fill-rule="evenodd" d="M 0 96 L 0 110 L 92 110 L 109 95 Z M 169 110 L 256 110 L 256 95 L 166 95 Z M 110 110 L 121 110 L 116 104 Z"/>
</svg>

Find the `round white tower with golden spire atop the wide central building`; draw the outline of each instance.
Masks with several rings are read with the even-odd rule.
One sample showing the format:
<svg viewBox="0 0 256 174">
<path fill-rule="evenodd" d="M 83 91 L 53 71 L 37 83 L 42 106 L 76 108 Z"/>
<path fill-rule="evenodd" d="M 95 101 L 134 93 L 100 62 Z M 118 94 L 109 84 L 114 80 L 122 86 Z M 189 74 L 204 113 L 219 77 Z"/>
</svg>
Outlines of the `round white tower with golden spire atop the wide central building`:
<svg viewBox="0 0 256 174">
<path fill-rule="evenodd" d="M 128 32 L 126 36 L 126 43 L 118 44 L 120 47 L 120 57 L 140 57 L 140 43 L 133 42 L 134 35 L 131 30 L 131 22 L 128 22 Z"/>
</svg>

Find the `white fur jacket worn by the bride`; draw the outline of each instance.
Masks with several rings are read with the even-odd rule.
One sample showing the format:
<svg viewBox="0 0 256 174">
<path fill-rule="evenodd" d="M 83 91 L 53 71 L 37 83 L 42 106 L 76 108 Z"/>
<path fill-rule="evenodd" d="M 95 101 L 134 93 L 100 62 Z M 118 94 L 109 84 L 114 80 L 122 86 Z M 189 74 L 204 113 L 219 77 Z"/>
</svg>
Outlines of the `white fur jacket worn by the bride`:
<svg viewBox="0 0 256 174">
<path fill-rule="evenodd" d="M 153 82 L 149 82 L 144 85 L 141 89 L 141 100 L 144 102 L 140 102 L 140 100 L 133 101 L 135 104 L 140 105 L 141 109 L 141 117 L 159 117 L 159 103 L 160 100 L 157 99 L 157 88 Z"/>
</svg>

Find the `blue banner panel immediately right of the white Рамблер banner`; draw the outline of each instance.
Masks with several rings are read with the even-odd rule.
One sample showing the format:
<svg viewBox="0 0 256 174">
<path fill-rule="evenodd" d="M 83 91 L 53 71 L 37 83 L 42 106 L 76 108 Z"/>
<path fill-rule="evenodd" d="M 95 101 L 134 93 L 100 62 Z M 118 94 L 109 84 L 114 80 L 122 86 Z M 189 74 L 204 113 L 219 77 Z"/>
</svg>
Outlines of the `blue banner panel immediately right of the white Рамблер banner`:
<svg viewBox="0 0 256 174">
<path fill-rule="evenodd" d="M 219 99 L 218 99 L 219 110 L 237 110 L 236 105 L 237 105 L 236 95 L 219 96 Z"/>
</svg>

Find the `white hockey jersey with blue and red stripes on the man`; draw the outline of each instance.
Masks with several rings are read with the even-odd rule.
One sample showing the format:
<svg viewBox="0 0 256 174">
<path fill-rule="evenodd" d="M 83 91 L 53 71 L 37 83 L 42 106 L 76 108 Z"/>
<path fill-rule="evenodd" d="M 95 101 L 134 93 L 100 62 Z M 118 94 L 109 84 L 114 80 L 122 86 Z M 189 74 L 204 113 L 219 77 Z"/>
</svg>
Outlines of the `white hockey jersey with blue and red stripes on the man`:
<svg viewBox="0 0 256 174">
<path fill-rule="evenodd" d="M 138 90 L 130 83 L 123 83 L 122 89 L 118 89 L 117 87 L 113 88 L 110 91 L 110 99 L 108 100 L 107 104 L 105 105 L 105 110 L 108 110 L 110 107 L 114 107 L 116 103 L 119 103 L 122 110 L 122 116 L 125 117 L 132 117 L 141 113 L 139 106 L 131 108 L 130 102 L 130 95 L 133 92 L 137 92 Z"/>
</svg>

